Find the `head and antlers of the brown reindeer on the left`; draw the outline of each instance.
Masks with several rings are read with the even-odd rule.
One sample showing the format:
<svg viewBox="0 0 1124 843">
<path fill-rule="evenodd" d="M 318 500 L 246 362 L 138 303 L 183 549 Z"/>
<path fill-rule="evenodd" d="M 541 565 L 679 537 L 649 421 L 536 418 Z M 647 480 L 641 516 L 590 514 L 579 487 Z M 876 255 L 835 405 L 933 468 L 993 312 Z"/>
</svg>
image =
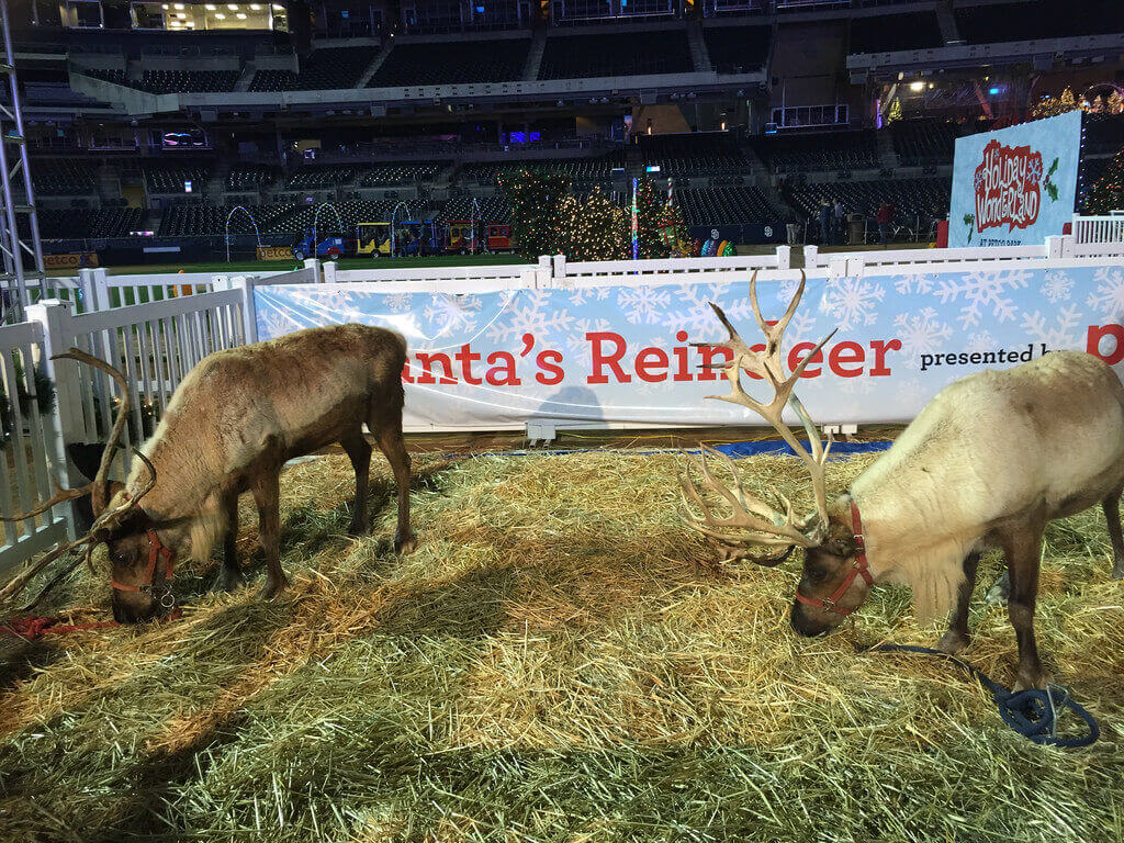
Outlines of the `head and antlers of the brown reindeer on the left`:
<svg viewBox="0 0 1124 843">
<path fill-rule="evenodd" d="M 85 560 L 90 564 L 94 549 L 99 544 L 106 544 L 109 551 L 111 565 L 110 583 L 114 586 L 114 617 L 119 622 L 133 623 L 143 620 L 155 615 L 160 608 L 160 601 L 153 593 L 152 575 L 148 573 L 147 584 L 142 584 L 147 572 L 148 559 L 152 555 L 152 533 L 153 523 L 149 516 L 139 508 L 140 499 L 156 484 L 156 470 L 144 454 L 139 451 L 134 453 L 148 469 L 148 478 L 136 493 L 129 495 L 125 491 L 123 483 L 109 483 L 109 468 L 112 464 L 121 433 L 128 419 L 130 392 L 128 382 L 118 370 L 97 357 L 87 354 L 78 348 L 71 348 L 65 354 L 57 354 L 53 357 L 76 360 L 82 363 L 100 369 L 109 374 L 121 390 L 121 402 L 114 420 L 114 427 L 109 435 L 109 442 L 105 447 L 98 446 L 99 456 L 97 459 L 97 471 L 93 480 L 87 486 L 75 489 L 58 489 L 57 493 L 49 500 L 39 504 L 34 509 L 13 515 L 3 520 L 22 520 L 47 511 L 56 504 L 64 501 L 76 501 L 82 509 L 89 505 L 89 514 L 92 516 L 92 524 L 85 535 L 73 542 L 61 543 L 54 550 L 44 554 L 38 560 L 29 562 L 25 569 L 2 589 L 0 589 L 0 601 L 7 602 L 12 597 L 20 593 L 27 584 L 52 562 L 62 559 L 72 551 L 81 551 L 81 555 L 65 566 L 52 579 L 39 595 L 26 607 L 28 611 L 43 600 L 46 593 L 74 568 Z M 84 453 L 87 460 L 82 462 L 92 464 L 89 460 L 90 451 Z M 72 456 L 75 452 L 72 451 Z M 87 470 L 89 475 L 89 470 Z M 161 584 L 164 584 L 163 581 Z"/>
</svg>

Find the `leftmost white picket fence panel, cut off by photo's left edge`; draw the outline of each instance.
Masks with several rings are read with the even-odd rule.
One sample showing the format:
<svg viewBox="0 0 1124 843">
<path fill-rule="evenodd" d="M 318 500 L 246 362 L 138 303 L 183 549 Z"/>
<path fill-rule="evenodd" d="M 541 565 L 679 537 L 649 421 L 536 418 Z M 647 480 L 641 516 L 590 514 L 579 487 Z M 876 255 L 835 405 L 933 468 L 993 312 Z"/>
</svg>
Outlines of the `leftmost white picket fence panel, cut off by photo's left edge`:
<svg viewBox="0 0 1124 843">
<path fill-rule="evenodd" d="M 0 327 L 0 514 L 31 509 L 54 493 L 58 443 L 49 379 L 36 378 L 43 357 L 43 326 L 25 321 Z M 57 510 L 0 525 L 0 573 L 65 538 L 67 520 Z"/>
</svg>

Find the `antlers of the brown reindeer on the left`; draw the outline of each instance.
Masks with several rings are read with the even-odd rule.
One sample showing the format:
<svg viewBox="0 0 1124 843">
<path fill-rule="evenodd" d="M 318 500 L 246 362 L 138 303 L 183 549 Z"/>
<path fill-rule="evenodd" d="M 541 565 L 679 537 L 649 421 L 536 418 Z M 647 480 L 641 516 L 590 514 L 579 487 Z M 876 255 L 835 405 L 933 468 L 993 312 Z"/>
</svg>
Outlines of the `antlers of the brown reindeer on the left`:
<svg viewBox="0 0 1124 843">
<path fill-rule="evenodd" d="M 97 546 L 99 542 L 103 542 L 112 533 L 114 528 L 121 523 L 125 516 L 128 515 L 134 509 L 136 509 L 137 505 L 140 502 L 140 499 L 144 498 L 144 496 L 147 495 L 152 490 L 152 488 L 156 484 L 155 466 L 153 466 L 152 462 L 148 460 L 147 456 L 145 456 L 143 453 L 134 448 L 133 453 L 136 454 L 136 456 L 148 469 L 148 479 L 145 481 L 144 487 L 142 487 L 139 491 L 137 491 L 135 495 L 129 496 L 125 500 L 125 502 L 123 502 L 120 506 L 114 507 L 112 509 L 106 508 L 109 505 L 109 501 L 106 500 L 106 487 L 109 478 L 109 468 L 112 464 L 114 454 L 117 450 L 118 442 L 120 441 L 121 433 L 125 429 L 125 424 L 128 418 L 128 411 L 129 411 L 128 381 L 125 379 L 124 374 L 121 374 L 114 366 L 109 365 L 109 363 L 106 363 L 105 361 L 99 360 L 98 357 L 94 357 L 91 354 L 87 354 L 84 351 L 81 351 L 80 348 L 71 348 L 69 352 L 65 352 L 63 354 L 55 354 L 52 357 L 52 360 L 60 360 L 60 359 L 70 359 L 81 363 L 87 363 L 109 374 L 109 377 L 116 380 L 117 383 L 121 387 L 121 404 L 118 407 L 117 417 L 114 420 L 112 430 L 110 430 L 109 442 L 106 444 L 106 450 L 101 455 L 101 464 L 98 466 L 98 474 L 93 479 L 93 482 L 84 487 L 80 487 L 78 489 L 58 489 L 58 492 L 53 498 L 51 498 L 51 500 L 47 500 L 38 505 L 34 509 L 17 516 L 3 518 L 3 520 L 22 520 L 24 518 L 29 518 L 34 515 L 39 515 L 40 513 L 47 511 L 55 504 L 65 500 L 73 500 L 87 493 L 91 496 L 91 500 L 93 502 L 93 509 L 94 513 L 97 514 L 93 524 L 90 526 L 89 532 L 84 536 L 75 538 L 73 542 L 58 544 L 54 550 L 49 551 L 44 556 L 39 558 L 34 562 L 29 562 L 19 574 L 17 574 L 10 581 L 8 581 L 3 588 L 0 588 L 0 602 L 7 602 L 12 597 L 22 591 L 27 587 L 27 584 L 33 579 L 35 579 L 35 577 L 38 573 L 40 573 L 45 568 L 47 568 L 47 565 L 49 565 L 52 562 L 62 558 L 70 551 L 76 550 L 79 547 L 84 547 L 84 552 L 82 556 L 79 559 L 79 561 L 72 564 L 69 569 L 65 569 L 60 577 L 55 577 L 53 580 L 51 580 L 51 582 L 47 583 L 47 586 L 43 589 L 43 591 L 39 592 L 38 597 L 36 597 L 35 600 L 33 600 L 31 604 L 29 604 L 29 606 L 25 608 L 25 611 L 34 607 L 36 604 L 38 604 L 39 600 L 42 600 L 43 597 L 57 582 L 61 581 L 62 577 L 65 575 L 65 573 L 69 572 L 70 570 L 73 570 L 74 565 L 76 565 L 80 561 L 85 560 L 87 562 L 89 562 L 90 556 L 93 554 L 94 546 Z"/>
</svg>

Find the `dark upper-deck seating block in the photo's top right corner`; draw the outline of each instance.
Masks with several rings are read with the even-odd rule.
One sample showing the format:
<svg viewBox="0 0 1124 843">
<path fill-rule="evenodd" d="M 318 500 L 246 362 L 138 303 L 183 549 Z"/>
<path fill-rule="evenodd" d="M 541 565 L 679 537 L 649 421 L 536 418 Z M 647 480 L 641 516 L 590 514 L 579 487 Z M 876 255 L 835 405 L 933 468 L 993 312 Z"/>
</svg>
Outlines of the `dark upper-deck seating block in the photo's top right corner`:
<svg viewBox="0 0 1124 843">
<path fill-rule="evenodd" d="M 964 7 L 954 13 L 969 44 L 1124 33 L 1120 0 L 1034 0 Z"/>
</svg>

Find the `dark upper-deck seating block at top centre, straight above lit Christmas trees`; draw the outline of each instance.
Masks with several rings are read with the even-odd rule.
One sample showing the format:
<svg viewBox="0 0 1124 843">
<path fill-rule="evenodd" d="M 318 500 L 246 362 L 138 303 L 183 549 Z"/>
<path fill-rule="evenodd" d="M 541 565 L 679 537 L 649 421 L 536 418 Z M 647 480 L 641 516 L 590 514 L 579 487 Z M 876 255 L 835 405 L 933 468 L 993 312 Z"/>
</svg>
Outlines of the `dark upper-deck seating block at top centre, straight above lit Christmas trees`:
<svg viewBox="0 0 1124 843">
<path fill-rule="evenodd" d="M 638 76 L 694 70 L 682 30 L 546 38 L 540 79 Z"/>
</svg>

